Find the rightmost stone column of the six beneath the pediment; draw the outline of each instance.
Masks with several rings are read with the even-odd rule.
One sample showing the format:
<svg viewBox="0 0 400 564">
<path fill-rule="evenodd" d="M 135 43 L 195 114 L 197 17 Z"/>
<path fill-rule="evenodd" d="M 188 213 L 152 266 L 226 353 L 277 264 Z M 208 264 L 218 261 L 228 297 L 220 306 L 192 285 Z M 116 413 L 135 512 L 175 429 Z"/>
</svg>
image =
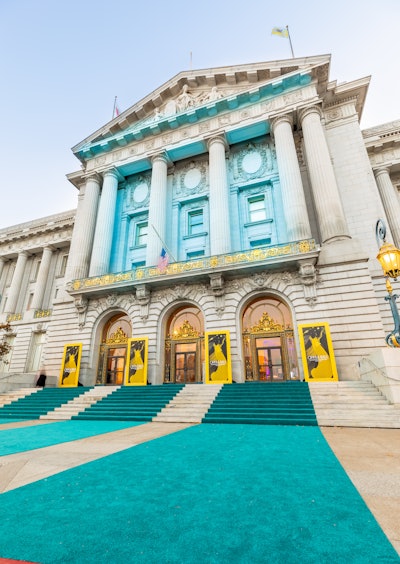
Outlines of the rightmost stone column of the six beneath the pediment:
<svg viewBox="0 0 400 564">
<path fill-rule="evenodd" d="M 299 114 L 304 149 L 314 196 L 322 243 L 350 238 L 333 166 L 317 106 Z"/>
</svg>

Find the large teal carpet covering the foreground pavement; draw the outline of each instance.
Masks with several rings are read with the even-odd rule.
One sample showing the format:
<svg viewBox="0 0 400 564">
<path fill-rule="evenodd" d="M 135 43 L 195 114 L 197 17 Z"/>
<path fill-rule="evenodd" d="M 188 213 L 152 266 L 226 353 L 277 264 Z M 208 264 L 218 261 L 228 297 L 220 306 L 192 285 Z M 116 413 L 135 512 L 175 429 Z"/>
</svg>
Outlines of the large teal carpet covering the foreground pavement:
<svg viewBox="0 0 400 564">
<path fill-rule="evenodd" d="M 0 496 L 41 564 L 394 564 L 316 427 L 200 425 Z"/>
</svg>

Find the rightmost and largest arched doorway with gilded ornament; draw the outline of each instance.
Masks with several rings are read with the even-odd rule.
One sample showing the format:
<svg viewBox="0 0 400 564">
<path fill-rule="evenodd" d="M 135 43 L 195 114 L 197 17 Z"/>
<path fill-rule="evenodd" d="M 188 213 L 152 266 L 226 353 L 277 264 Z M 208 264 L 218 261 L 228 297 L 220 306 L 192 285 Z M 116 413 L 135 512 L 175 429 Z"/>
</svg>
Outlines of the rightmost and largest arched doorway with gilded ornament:
<svg viewBox="0 0 400 564">
<path fill-rule="evenodd" d="M 242 328 L 246 380 L 299 379 L 292 316 L 284 302 L 274 296 L 253 300 Z"/>
</svg>

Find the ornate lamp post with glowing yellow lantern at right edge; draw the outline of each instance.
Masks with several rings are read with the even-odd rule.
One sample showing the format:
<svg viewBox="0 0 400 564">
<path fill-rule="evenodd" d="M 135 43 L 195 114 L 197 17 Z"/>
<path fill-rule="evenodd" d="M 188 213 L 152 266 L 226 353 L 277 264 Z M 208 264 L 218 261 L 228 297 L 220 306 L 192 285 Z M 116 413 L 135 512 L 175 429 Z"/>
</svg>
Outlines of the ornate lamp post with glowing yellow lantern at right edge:
<svg viewBox="0 0 400 564">
<path fill-rule="evenodd" d="M 379 247 L 376 258 L 381 264 L 388 291 L 385 300 L 389 302 L 394 320 L 394 329 L 386 336 L 386 343 L 389 347 L 400 347 L 400 316 L 396 304 L 396 299 L 399 296 L 393 294 L 393 288 L 389 280 L 389 278 L 397 280 L 400 276 L 400 250 L 391 243 L 386 242 L 386 225 L 383 219 L 379 219 L 376 223 L 376 241 Z"/>
</svg>

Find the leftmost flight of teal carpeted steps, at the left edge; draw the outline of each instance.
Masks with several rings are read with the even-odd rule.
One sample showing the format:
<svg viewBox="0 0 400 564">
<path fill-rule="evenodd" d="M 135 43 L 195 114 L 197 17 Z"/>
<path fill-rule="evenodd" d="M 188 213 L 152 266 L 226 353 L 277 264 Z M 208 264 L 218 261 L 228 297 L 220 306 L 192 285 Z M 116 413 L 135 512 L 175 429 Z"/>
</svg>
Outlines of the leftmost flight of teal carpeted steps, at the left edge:
<svg viewBox="0 0 400 564">
<path fill-rule="evenodd" d="M 43 388 L 0 408 L 0 419 L 39 419 L 90 388 Z"/>
</svg>

